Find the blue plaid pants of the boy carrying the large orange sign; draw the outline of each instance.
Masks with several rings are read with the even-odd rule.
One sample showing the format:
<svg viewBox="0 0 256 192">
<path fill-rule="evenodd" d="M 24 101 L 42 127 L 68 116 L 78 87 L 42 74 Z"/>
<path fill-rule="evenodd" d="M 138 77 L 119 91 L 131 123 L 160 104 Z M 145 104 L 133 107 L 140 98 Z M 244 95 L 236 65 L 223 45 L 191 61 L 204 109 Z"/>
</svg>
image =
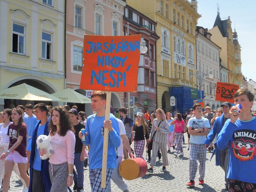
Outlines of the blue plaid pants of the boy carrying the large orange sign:
<svg viewBox="0 0 256 192">
<path fill-rule="evenodd" d="M 89 178 L 90 184 L 92 188 L 92 192 L 105 192 L 110 184 L 110 179 L 112 175 L 113 169 L 107 169 L 106 173 L 106 188 L 101 188 L 101 173 L 102 169 L 90 169 L 89 170 Z M 111 191 L 111 189 L 110 189 Z"/>
</svg>

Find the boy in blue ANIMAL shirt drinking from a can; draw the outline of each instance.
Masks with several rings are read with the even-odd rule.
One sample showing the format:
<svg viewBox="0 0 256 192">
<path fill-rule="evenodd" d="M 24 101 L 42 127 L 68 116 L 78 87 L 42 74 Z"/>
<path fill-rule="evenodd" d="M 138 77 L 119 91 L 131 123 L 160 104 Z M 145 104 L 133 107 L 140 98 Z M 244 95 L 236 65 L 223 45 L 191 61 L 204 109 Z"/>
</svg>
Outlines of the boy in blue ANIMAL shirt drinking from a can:
<svg viewBox="0 0 256 192">
<path fill-rule="evenodd" d="M 248 89 L 239 89 L 234 98 L 230 119 L 220 131 L 216 144 L 219 149 L 229 146 L 229 191 L 253 192 L 256 190 L 256 118 L 251 115 L 254 96 Z"/>
</svg>

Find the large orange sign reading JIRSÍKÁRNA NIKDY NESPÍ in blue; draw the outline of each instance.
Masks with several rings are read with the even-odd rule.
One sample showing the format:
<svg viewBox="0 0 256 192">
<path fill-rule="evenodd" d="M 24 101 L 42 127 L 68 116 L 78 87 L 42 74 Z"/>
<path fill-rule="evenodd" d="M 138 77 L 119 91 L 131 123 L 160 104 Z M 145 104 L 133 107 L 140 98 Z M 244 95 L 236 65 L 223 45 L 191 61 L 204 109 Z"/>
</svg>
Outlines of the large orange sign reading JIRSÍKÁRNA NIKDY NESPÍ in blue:
<svg viewBox="0 0 256 192">
<path fill-rule="evenodd" d="M 141 35 L 84 35 L 80 89 L 137 91 Z"/>
</svg>

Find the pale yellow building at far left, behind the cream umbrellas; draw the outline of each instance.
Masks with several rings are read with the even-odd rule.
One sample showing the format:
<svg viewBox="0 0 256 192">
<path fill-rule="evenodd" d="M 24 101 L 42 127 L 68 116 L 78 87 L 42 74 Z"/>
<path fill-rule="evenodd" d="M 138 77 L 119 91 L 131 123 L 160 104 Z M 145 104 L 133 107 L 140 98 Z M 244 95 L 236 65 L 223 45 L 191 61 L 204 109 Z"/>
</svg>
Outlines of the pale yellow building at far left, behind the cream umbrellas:
<svg viewBox="0 0 256 192">
<path fill-rule="evenodd" d="M 21 83 L 48 93 L 65 88 L 64 23 L 64 1 L 0 0 L 0 90 Z M 0 99 L 0 110 L 24 102 Z"/>
</svg>

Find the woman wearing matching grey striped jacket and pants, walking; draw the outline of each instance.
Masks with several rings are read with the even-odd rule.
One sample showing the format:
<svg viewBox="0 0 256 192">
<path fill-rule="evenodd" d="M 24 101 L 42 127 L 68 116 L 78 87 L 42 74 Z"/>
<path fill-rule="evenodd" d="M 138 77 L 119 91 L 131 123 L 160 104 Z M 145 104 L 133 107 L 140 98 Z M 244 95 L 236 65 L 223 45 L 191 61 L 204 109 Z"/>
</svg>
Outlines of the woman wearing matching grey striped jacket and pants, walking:
<svg viewBox="0 0 256 192">
<path fill-rule="evenodd" d="M 156 165 L 156 155 L 159 147 L 163 157 L 163 168 L 161 169 L 161 172 L 166 171 L 166 166 L 168 165 L 167 150 L 166 150 L 168 133 L 169 133 L 169 126 L 166 121 L 164 111 L 163 109 L 158 108 L 156 109 L 156 119 L 153 120 L 152 129 L 149 136 L 149 142 L 153 142 L 152 157 L 150 161 L 151 167 L 148 169 L 148 172 L 150 173 L 153 173 L 154 165 Z"/>
</svg>

